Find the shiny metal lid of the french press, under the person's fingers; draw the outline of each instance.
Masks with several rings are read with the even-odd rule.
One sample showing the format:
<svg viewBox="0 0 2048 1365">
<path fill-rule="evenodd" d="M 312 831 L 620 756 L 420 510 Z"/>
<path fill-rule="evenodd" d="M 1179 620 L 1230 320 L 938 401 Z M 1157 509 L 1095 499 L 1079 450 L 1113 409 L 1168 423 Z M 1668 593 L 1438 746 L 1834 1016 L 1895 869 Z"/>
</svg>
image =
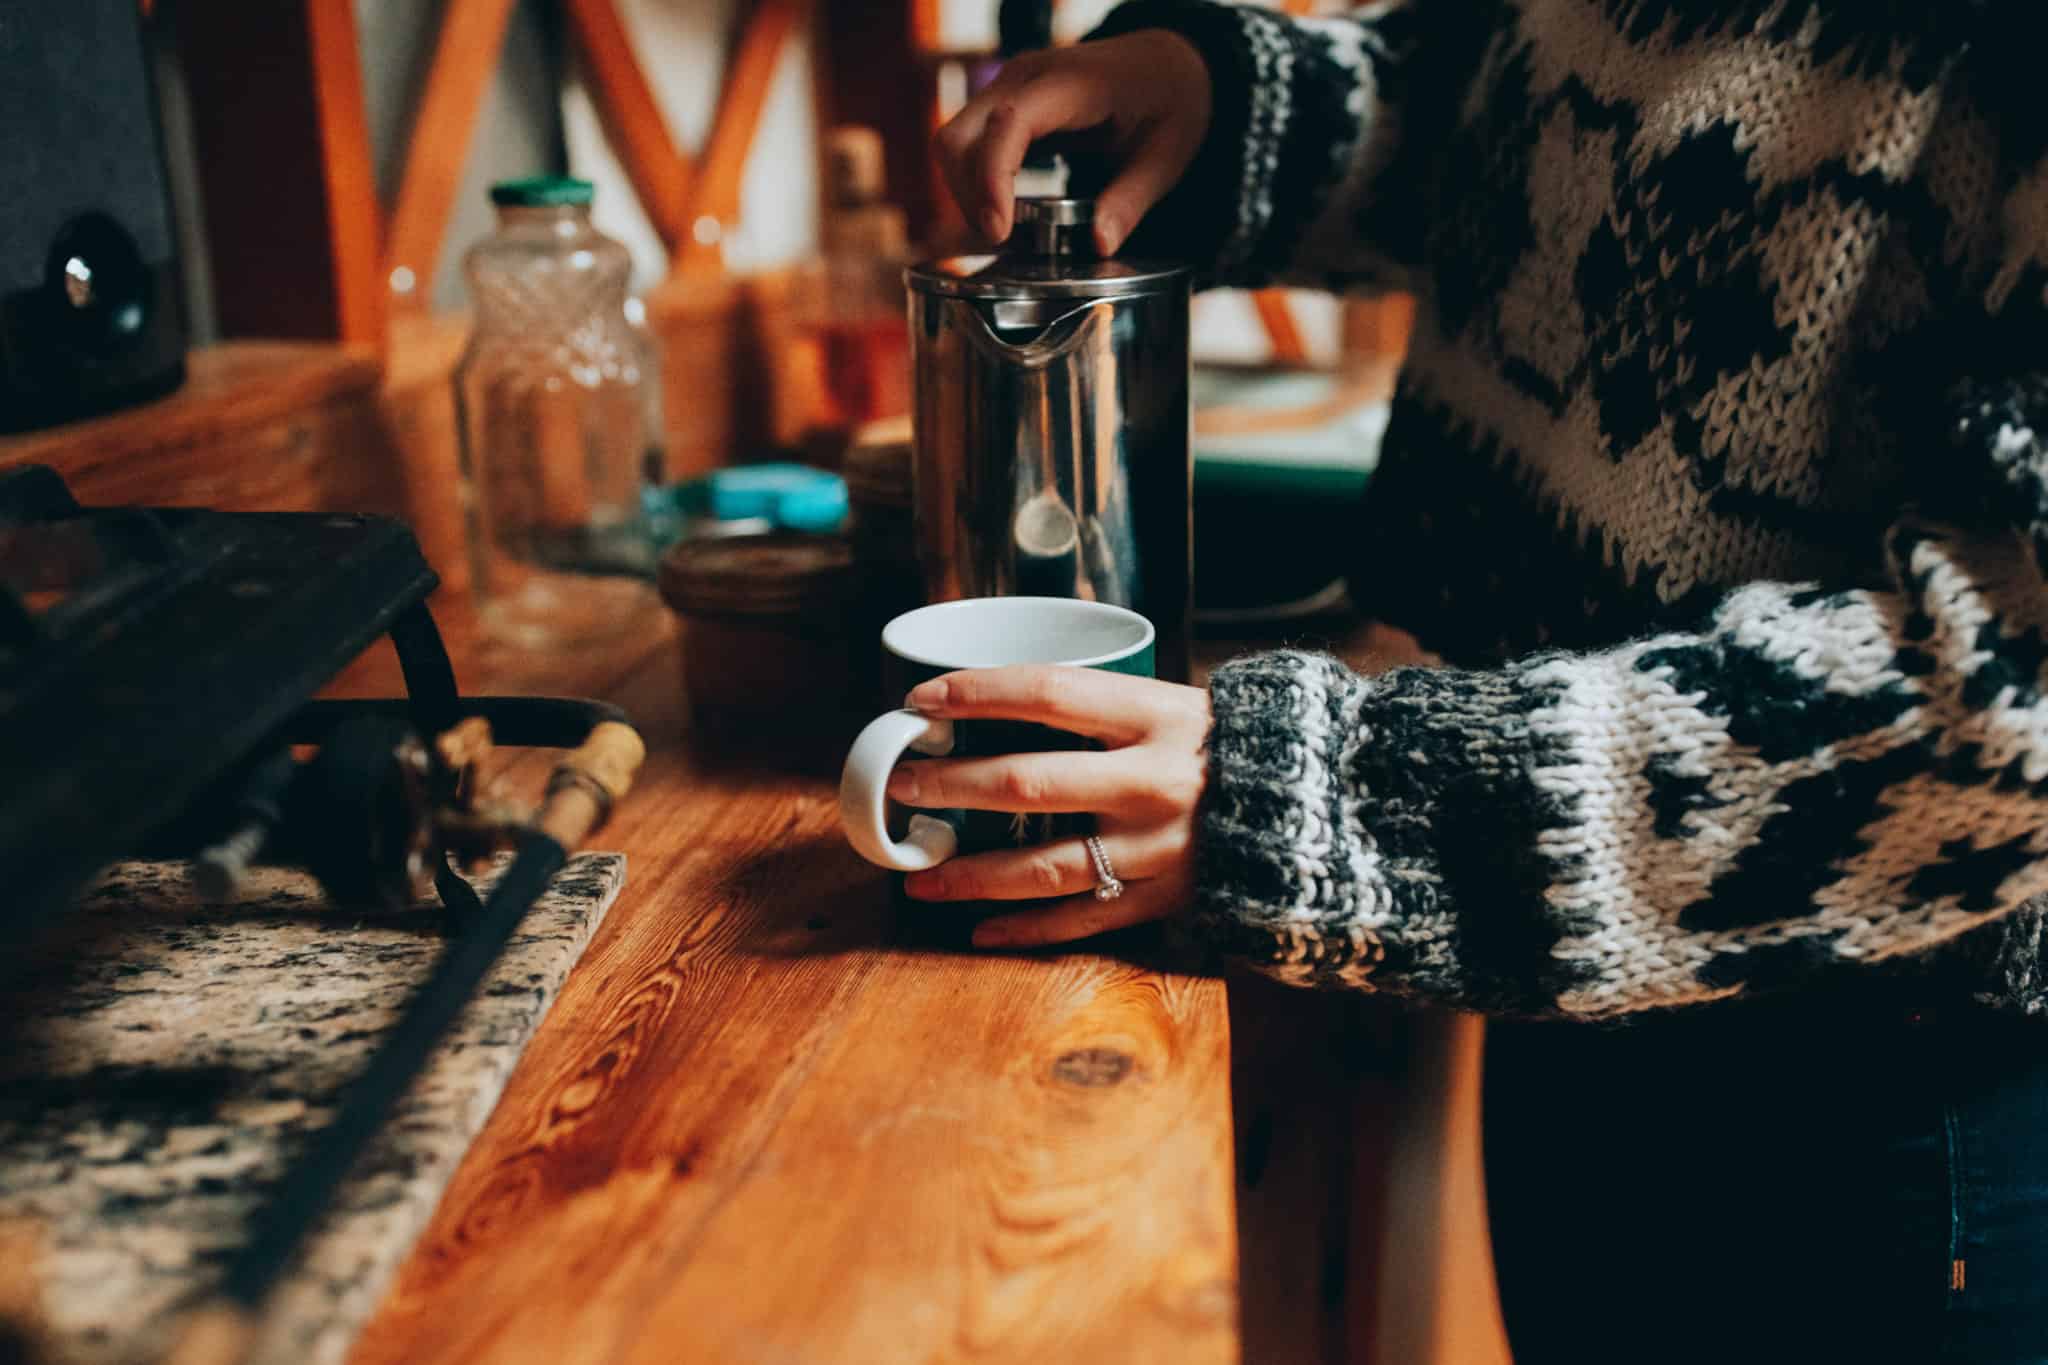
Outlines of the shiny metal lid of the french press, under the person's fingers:
<svg viewBox="0 0 2048 1365">
<path fill-rule="evenodd" d="M 1188 278 L 1186 266 L 1102 256 L 1094 227 L 1092 199 L 1018 199 L 999 252 L 924 262 L 903 280 L 956 299 L 1120 299 L 1178 289 Z"/>
</svg>

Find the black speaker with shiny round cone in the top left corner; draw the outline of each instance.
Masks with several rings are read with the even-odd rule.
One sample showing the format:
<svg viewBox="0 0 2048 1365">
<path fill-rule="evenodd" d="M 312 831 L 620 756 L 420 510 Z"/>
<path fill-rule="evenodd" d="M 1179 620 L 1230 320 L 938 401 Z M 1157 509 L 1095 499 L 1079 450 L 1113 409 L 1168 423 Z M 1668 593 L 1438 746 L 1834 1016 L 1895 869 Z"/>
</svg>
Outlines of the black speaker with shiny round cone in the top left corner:
<svg viewBox="0 0 2048 1365">
<path fill-rule="evenodd" d="M 0 0 L 0 432 L 184 381 L 137 0 Z"/>
</svg>

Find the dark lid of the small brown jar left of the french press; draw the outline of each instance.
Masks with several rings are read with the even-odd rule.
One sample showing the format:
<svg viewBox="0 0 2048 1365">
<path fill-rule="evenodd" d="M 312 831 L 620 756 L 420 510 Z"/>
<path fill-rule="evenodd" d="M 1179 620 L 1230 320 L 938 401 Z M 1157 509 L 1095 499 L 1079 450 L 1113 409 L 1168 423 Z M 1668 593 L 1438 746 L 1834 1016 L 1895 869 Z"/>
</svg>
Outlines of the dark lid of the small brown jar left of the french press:
<svg viewBox="0 0 2048 1365">
<path fill-rule="evenodd" d="M 844 614 L 860 579 L 846 536 L 774 532 L 682 540 L 659 585 L 682 616 L 821 618 Z"/>
</svg>

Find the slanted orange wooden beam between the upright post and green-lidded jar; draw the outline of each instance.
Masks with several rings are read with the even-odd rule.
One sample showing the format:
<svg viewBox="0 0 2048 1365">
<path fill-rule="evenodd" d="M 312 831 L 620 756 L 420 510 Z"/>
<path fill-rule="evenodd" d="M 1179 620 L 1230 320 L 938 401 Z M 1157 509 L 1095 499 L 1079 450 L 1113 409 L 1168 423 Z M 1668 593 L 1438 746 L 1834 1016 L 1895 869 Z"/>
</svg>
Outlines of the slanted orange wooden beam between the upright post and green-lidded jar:
<svg viewBox="0 0 2048 1365">
<path fill-rule="evenodd" d="M 514 0 L 449 0 L 406 147 L 383 264 L 399 307 L 424 307 L 463 184 L 469 139 L 504 49 Z M 346 8 L 346 0 L 344 0 Z"/>
</svg>

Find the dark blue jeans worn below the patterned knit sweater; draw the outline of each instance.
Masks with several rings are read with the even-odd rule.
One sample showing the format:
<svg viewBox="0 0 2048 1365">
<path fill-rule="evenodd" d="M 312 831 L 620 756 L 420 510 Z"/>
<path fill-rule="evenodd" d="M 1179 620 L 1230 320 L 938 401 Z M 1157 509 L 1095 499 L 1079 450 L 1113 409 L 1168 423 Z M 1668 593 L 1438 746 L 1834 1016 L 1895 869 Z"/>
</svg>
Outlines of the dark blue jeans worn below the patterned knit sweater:
<svg viewBox="0 0 2048 1365">
<path fill-rule="evenodd" d="M 2048 1019 L 1892 986 L 1487 1033 L 1518 1365 L 2048 1363 Z"/>
</svg>

